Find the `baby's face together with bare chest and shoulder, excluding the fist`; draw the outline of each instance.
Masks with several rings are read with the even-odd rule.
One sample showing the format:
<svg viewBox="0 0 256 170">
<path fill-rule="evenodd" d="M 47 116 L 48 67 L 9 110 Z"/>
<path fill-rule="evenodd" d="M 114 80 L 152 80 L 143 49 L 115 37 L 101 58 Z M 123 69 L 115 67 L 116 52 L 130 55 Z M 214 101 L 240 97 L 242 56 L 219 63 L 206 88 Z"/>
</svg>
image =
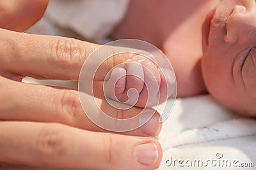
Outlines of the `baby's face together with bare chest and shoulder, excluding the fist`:
<svg viewBox="0 0 256 170">
<path fill-rule="evenodd" d="M 255 116 L 255 6 L 253 0 L 131 0 L 111 37 L 161 48 L 172 62 L 178 97 L 209 91 L 232 110 Z"/>
</svg>

